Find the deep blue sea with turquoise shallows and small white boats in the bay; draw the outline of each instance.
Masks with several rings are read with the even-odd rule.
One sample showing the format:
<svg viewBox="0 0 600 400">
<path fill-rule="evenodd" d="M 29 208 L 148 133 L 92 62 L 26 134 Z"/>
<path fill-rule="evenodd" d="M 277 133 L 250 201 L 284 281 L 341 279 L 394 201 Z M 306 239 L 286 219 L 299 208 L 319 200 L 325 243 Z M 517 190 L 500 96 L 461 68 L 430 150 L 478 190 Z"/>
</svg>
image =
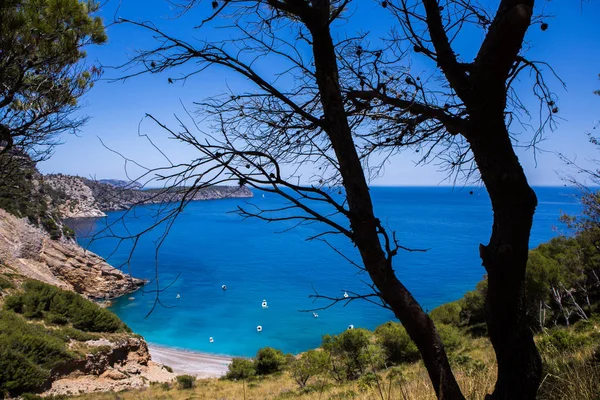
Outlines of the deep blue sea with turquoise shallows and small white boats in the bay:
<svg viewBox="0 0 600 400">
<path fill-rule="evenodd" d="M 532 248 L 564 231 L 558 221 L 561 212 L 580 210 L 573 189 L 545 187 L 536 188 L 536 193 L 539 206 Z M 425 309 L 473 289 L 485 273 L 478 245 L 487 243 L 491 232 L 492 211 L 484 189 L 374 187 L 372 195 L 377 216 L 397 232 L 402 245 L 428 249 L 400 252 L 394 264 Z M 151 282 L 131 295 L 134 300 L 117 299 L 111 310 L 150 343 L 235 356 L 254 355 L 264 346 L 298 353 L 317 347 L 323 334 L 339 333 L 350 324 L 372 329 L 393 318 L 390 311 L 365 301 L 338 303 L 318 311 L 319 318 L 301 312 L 329 304 L 313 302 L 309 295 L 314 291 L 332 297 L 345 290 L 368 293 L 369 277 L 327 244 L 306 241 L 322 231 L 318 224 L 287 230 L 294 222 L 267 223 L 231 213 L 249 204 L 265 209 L 285 202 L 275 195 L 262 197 L 260 192 L 253 199 L 193 202 L 171 227 L 158 262 L 157 240 L 164 229 L 142 236 L 123 269 Z M 125 224 L 113 227 L 116 235 L 143 231 L 154 222 L 158 207 L 136 207 L 127 214 L 110 212 L 106 218 L 79 221 L 78 240 L 112 265 L 122 265 L 130 255 L 130 241 L 119 245 L 115 238 L 92 241 L 90 237 L 121 219 Z M 330 240 L 357 259 L 348 241 Z M 160 304 L 147 315 L 157 298 L 157 273 Z M 263 300 L 267 309 L 261 307 Z M 260 333 L 258 325 L 263 327 Z"/>
</svg>

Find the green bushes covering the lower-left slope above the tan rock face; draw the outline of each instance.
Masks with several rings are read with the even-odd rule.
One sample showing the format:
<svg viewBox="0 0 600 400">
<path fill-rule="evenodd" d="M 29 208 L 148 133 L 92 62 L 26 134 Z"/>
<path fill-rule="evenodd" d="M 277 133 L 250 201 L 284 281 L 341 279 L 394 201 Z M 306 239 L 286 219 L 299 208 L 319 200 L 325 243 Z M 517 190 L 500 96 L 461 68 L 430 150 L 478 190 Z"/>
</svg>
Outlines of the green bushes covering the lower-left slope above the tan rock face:
<svg viewBox="0 0 600 400">
<path fill-rule="evenodd" d="M 116 315 L 76 293 L 35 280 L 21 284 L 13 274 L 1 279 L 0 394 L 47 389 L 85 360 L 85 342 L 129 332 Z"/>
</svg>

